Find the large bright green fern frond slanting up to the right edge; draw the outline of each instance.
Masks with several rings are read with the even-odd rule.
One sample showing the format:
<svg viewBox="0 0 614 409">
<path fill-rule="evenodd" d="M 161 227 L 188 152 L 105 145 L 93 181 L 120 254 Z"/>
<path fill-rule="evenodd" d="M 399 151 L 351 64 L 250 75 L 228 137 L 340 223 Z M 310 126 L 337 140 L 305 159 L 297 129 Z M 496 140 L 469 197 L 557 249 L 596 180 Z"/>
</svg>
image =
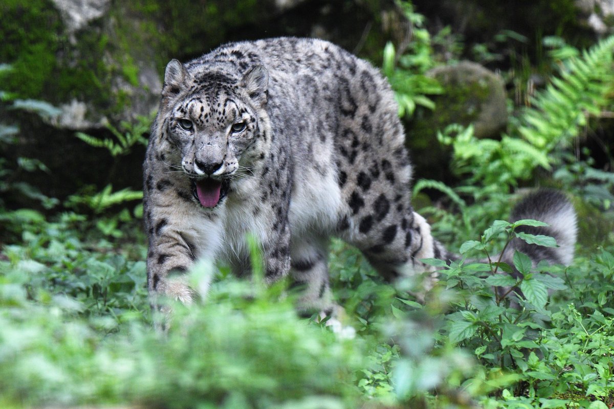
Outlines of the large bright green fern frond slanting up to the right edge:
<svg viewBox="0 0 614 409">
<path fill-rule="evenodd" d="M 569 146 L 581 134 L 588 115 L 598 117 L 610 105 L 614 88 L 614 36 L 602 40 L 581 57 L 561 62 L 561 78 L 532 99 L 518 125 L 500 140 L 477 139 L 472 128 L 450 125 L 438 138 L 454 148 L 452 169 L 470 175 L 468 183 L 500 185 L 503 189 L 526 180 L 537 167 L 551 169 L 555 148 Z"/>
</svg>

